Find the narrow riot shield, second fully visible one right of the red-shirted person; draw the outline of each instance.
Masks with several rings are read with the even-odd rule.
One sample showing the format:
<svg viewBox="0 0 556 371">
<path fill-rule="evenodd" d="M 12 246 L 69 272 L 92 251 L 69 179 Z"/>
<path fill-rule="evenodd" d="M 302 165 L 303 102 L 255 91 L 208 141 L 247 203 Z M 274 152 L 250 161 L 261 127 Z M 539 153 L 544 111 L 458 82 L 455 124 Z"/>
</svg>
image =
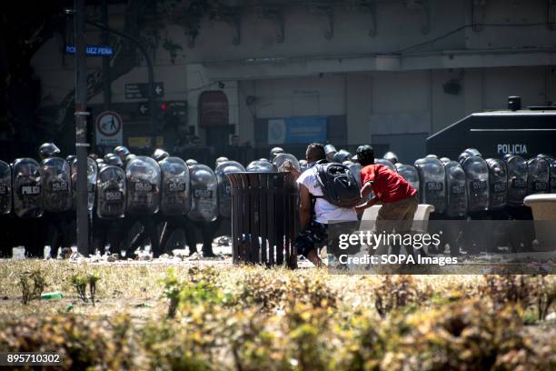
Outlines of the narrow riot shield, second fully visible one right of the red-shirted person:
<svg viewBox="0 0 556 371">
<path fill-rule="evenodd" d="M 467 215 L 467 179 L 462 165 L 449 161 L 444 165 L 446 173 L 446 216 L 463 217 Z"/>
</svg>

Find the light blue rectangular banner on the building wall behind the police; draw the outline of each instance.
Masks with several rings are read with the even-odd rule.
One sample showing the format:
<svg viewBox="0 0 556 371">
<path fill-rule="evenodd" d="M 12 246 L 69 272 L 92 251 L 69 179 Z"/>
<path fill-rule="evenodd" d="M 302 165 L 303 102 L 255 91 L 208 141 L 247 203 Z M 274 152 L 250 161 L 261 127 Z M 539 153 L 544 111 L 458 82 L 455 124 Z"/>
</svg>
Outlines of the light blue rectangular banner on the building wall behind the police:
<svg viewBox="0 0 556 371">
<path fill-rule="evenodd" d="M 268 144 L 309 144 L 326 141 L 326 116 L 284 117 L 268 120 Z"/>
</svg>

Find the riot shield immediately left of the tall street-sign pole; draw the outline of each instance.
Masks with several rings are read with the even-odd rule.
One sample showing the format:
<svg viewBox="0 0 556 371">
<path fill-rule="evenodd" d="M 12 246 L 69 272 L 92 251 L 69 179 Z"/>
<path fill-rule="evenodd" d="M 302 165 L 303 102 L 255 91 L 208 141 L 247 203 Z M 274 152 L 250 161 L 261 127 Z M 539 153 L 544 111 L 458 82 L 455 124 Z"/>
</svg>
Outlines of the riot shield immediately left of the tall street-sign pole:
<svg viewBox="0 0 556 371">
<path fill-rule="evenodd" d="M 72 207 L 72 174 L 64 158 L 49 157 L 43 167 L 43 200 L 45 211 L 60 213 Z"/>
</svg>

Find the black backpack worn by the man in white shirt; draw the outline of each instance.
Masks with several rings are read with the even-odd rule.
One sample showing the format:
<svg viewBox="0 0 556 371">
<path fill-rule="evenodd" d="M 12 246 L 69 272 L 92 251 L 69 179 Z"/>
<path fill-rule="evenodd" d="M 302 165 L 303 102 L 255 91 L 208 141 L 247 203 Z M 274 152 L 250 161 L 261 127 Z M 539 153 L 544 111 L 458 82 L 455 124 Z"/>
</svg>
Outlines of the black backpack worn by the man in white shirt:
<svg viewBox="0 0 556 371">
<path fill-rule="evenodd" d="M 361 202 L 355 176 L 342 164 L 319 161 L 314 165 L 316 178 L 326 201 L 339 207 L 352 208 Z"/>
</svg>

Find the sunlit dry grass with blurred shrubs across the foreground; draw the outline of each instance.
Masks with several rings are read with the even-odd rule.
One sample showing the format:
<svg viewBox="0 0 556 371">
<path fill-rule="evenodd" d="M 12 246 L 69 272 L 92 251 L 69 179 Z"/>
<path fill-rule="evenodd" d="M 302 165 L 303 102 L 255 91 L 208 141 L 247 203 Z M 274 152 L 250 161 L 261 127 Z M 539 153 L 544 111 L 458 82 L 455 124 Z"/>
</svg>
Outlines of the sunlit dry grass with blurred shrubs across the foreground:
<svg viewBox="0 0 556 371">
<path fill-rule="evenodd" d="M 73 369 L 555 369 L 555 306 L 553 276 L 4 260 L 0 352 Z"/>
</svg>

